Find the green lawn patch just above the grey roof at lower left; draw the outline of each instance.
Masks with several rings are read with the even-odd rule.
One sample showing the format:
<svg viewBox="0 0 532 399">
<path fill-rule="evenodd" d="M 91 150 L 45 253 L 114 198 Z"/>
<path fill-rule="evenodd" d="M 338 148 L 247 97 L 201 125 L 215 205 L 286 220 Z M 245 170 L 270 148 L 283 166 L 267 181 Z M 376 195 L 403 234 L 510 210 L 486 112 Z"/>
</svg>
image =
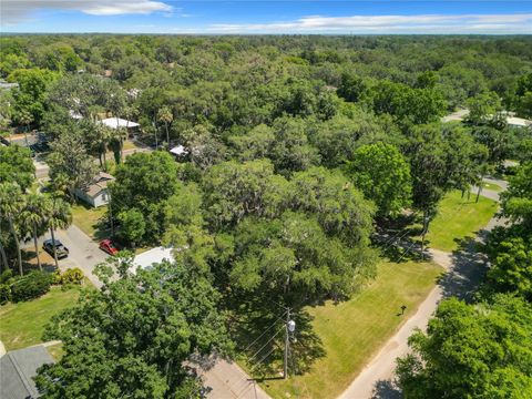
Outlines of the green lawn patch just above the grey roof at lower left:
<svg viewBox="0 0 532 399">
<path fill-rule="evenodd" d="M 42 297 L 18 304 L 0 306 L 0 340 L 7 350 L 25 348 L 42 342 L 44 326 L 62 309 L 78 299 L 80 288 L 61 290 L 52 287 Z"/>
</svg>

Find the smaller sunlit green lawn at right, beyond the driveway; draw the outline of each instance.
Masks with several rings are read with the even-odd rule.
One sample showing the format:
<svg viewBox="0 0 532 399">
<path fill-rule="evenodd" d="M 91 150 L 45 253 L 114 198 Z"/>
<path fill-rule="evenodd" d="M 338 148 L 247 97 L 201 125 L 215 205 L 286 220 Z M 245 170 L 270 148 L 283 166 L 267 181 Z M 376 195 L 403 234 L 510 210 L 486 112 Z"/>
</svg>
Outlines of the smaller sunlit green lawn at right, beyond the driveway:
<svg viewBox="0 0 532 399">
<path fill-rule="evenodd" d="M 497 213 L 497 202 L 475 195 L 461 197 L 458 191 L 449 193 L 438 207 L 438 215 L 430 223 L 427 243 L 429 247 L 452 252 L 458 248 L 457 242 L 473 237 L 475 232 L 484 227 Z"/>
</svg>

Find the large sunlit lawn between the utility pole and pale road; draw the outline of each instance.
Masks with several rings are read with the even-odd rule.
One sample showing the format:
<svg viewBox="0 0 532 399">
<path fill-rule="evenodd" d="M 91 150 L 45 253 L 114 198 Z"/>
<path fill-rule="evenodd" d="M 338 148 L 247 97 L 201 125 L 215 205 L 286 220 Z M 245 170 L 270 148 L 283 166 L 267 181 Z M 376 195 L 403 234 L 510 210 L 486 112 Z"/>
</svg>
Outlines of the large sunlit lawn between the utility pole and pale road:
<svg viewBox="0 0 532 399">
<path fill-rule="evenodd" d="M 309 308 L 326 356 L 311 370 L 263 387 L 274 398 L 335 398 L 412 316 L 442 269 L 431 263 L 382 263 L 376 280 L 346 303 Z M 405 316 L 398 316 L 401 305 Z"/>
</svg>

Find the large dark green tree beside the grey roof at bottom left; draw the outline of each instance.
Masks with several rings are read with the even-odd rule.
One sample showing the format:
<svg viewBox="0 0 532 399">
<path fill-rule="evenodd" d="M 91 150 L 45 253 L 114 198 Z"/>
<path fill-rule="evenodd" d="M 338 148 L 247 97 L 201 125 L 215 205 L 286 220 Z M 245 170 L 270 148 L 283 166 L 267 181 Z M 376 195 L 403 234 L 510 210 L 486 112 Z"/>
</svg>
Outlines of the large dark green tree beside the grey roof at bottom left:
<svg viewBox="0 0 532 399">
<path fill-rule="evenodd" d="M 131 274 L 130 262 L 115 259 L 114 282 L 103 266 L 103 288 L 54 317 L 45 339 L 64 355 L 39 369 L 45 398 L 195 398 L 201 381 L 184 361 L 232 350 L 207 278 L 177 263 Z"/>
</svg>

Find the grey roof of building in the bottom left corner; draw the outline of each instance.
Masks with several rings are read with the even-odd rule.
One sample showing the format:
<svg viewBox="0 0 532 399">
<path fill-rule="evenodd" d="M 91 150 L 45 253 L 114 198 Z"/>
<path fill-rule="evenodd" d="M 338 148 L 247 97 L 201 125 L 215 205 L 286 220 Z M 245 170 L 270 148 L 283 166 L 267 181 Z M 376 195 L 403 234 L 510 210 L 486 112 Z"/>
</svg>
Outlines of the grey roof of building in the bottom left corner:
<svg viewBox="0 0 532 399">
<path fill-rule="evenodd" d="M 37 369 L 53 359 L 43 346 L 12 350 L 0 358 L 0 398 L 38 398 L 35 382 Z"/>
</svg>

